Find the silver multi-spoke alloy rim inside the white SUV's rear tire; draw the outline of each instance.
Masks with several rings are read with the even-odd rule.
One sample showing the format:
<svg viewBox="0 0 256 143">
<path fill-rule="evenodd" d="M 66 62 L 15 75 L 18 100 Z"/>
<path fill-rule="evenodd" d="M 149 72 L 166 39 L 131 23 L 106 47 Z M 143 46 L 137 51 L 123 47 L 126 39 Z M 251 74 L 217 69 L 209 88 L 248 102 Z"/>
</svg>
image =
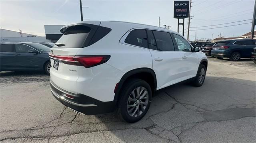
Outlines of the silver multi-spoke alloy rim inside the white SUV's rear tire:
<svg viewBox="0 0 256 143">
<path fill-rule="evenodd" d="M 148 90 L 142 86 L 135 88 L 127 101 L 127 112 L 131 117 L 140 116 L 148 106 Z"/>
</svg>

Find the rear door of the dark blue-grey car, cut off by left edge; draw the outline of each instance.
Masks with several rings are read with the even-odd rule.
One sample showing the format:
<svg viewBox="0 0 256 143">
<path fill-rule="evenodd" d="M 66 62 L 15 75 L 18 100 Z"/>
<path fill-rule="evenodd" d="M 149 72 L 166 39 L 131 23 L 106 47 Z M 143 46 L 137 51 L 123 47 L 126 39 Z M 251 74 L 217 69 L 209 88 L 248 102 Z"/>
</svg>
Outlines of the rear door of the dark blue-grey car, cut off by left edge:
<svg viewBox="0 0 256 143">
<path fill-rule="evenodd" d="M 0 44 L 0 70 L 16 69 L 14 44 Z"/>
</svg>

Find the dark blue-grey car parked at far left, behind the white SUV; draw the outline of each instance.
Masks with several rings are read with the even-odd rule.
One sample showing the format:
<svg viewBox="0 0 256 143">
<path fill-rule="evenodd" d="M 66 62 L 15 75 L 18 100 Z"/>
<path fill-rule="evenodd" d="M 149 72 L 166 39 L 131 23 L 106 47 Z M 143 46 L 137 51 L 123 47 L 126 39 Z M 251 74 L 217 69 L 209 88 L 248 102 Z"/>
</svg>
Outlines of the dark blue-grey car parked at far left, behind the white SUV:
<svg viewBox="0 0 256 143">
<path fill-rule="evenodd" d="M 40 70 L 50 73 L 49 47 L 39 43 L 0 43 L 0 71 Z"/>
</svg>

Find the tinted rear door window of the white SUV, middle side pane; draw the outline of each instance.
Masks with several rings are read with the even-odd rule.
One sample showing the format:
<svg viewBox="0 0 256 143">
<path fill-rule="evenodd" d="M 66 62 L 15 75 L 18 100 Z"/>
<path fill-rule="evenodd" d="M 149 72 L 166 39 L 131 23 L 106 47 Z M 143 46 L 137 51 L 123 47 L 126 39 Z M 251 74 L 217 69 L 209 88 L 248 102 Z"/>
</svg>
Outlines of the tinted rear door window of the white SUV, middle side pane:
<svg viewBox="0 0 256 143">
<path fill-rule="evenodd" d="M 174 51 L 174 44 L 170 33 L 162 31 L 153 31 L 156 39 L 158 51 Z"/>
</svg>

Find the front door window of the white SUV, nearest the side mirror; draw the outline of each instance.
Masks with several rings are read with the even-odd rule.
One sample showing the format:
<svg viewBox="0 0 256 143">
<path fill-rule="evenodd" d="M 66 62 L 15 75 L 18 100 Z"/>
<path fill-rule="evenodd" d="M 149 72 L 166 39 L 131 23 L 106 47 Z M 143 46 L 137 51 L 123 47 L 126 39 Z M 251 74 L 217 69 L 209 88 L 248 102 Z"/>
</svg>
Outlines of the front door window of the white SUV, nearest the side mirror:
<svg viewBox="0 0 256 143">
<path fill-rule="evenodd" d="M 173 34 L 179 51 L 192 51 L 190 44 L 180 35 Z"/>
</svg>

